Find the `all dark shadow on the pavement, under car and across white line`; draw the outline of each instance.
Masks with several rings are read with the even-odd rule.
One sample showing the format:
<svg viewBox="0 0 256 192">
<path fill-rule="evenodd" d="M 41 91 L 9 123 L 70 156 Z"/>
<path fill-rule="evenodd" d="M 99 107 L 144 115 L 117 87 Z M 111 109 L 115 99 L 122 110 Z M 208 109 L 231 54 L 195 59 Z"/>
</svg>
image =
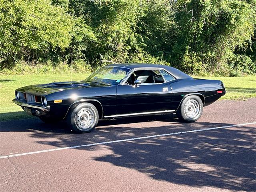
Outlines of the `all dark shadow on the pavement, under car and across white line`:
<svg viewBox="0 0 256 192">
<path fill-rule="evenodd" d="M 200 128 L 227 126 L 223 123 L 178 123 L 175 116 L 154 116 L 101 121 L 90 134 L 71 134 L 65 124 L 45 125 L 36 121 L 31 126 L 1 124 L 1 132 L 31 132 L 33 138 L 52 138 L 38 143 L 56 147 L 90 144 L 109 140 L 180 132 Z M 159 126 L 150 126 L 157 120 Z M 143 127 L 133 124 L 148 122 Z M 170 122 L 168 126 L 161 122 Z M 35 121 L 32 122 L 35 124 Z M 105 127 L 104 127 L 105 126 Z M 32 127 L 32 128 L 31 128 Z M 237 126 L 218 130 L 172 135 L 166 137 L 119 142 L 106 145 L 112 154 L 94 157 L 99 162 L 137 170 L 155 180 L 194 187 L 215 187 L 228 190 L 255 191 L 255 128 Z M 99 150 L 99 146 L 76 150 Z"/>
</svg>

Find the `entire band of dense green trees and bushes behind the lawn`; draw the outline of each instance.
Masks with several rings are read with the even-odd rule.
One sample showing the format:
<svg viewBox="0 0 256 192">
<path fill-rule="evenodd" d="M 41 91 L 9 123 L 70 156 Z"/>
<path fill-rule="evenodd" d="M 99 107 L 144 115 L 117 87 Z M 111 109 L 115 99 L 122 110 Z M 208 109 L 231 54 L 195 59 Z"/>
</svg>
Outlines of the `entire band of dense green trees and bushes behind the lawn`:
<svg viewBox="0 0 256 192">
<path fill-rule="evenodd" d="M 2 72 L 101 60 L 256 74 L 256 0 L 0 0 Z"/>
</svg>

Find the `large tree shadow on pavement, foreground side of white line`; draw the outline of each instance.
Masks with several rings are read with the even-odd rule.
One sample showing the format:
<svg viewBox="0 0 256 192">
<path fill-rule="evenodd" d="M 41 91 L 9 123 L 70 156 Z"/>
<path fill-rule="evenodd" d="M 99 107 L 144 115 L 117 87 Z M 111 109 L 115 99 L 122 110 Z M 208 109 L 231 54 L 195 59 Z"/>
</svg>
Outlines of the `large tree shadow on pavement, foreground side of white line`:
<svg viewBox="0 0 256 192">
<path fill-rule="evenodd" d="M 240 126 L 111 145 L 95 158 L 156 180 L 188 186 L 255 191 L 255 128 Z M 92 150 L 96 147 L 92 147 Z"/>
</svg>

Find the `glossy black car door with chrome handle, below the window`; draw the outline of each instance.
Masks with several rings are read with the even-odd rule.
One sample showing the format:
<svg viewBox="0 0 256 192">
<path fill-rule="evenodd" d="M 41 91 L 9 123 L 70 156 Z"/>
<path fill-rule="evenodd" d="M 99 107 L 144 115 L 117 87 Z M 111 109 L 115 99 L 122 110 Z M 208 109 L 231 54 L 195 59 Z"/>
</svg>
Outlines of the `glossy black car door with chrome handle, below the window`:
<svg viewBox="0 0 256 192">
<path fill-rule="evenodd" d="M 172 89 L 168 82 L 121 84 L 117 86 L 117 115 L 170 110 L 171 99 Z"/>
</svg>

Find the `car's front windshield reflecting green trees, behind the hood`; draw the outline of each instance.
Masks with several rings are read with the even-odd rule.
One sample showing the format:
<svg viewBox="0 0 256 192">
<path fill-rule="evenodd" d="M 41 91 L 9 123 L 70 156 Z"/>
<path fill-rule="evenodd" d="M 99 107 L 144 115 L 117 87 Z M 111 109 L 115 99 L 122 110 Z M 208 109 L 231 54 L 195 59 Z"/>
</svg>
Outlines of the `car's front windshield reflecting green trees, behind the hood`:
<svg viewBox="0 0 256 192">
<path fill-rule="evenodd" d="M 122 67 L 102 67 L 84 81 L 117 85 L 129 71 L 130 69 Z"/>
</svg>

